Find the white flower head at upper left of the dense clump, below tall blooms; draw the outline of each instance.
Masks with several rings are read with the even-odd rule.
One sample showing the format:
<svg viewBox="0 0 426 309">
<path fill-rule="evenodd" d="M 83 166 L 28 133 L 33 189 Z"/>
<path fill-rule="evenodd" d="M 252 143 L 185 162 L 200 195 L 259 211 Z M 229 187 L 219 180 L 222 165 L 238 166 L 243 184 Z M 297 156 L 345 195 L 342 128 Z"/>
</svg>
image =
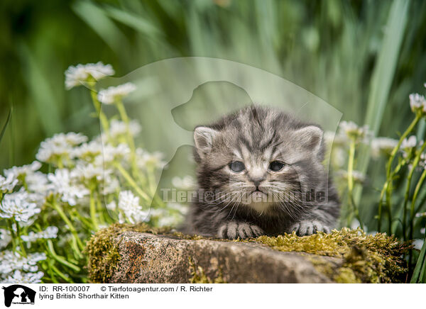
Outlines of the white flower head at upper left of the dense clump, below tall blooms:
<svg viewBox="0 0 426 309">
<path fill-rule="evenodd" d="M 81 133 L 55 134 L 40 143 L 40 149 L 35 157 L 41 162 L 56 163 L 58 158 L 71 157 L 72 147 L 87 141 L 87 136 Z"/>
</svg>

